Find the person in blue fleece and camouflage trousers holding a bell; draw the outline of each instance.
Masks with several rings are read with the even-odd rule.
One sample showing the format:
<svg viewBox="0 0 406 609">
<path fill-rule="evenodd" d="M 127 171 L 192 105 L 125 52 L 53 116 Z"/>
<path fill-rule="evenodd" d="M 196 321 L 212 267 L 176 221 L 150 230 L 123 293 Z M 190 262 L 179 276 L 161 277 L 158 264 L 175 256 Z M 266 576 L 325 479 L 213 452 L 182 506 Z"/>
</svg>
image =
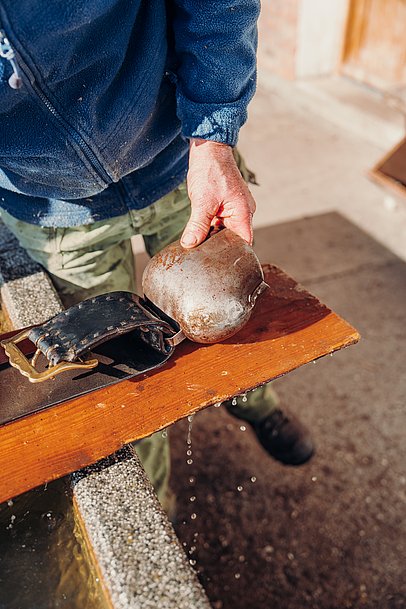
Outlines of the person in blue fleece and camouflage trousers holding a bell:
<svg viewBox="0 0 406 609">
<path fill-rule="evenodd" d="M 214 221 L 252 242 L 235 146 L 258 14 L 259 0 L 1 2 L 1 217 L 66 306 L 135 291 L 135 234 L 150 255 L 178 238 L 196 247 Z M 268 453 L 310 458 L 308 431 L 269 385 L 236 402 Z M 167 440 L 136 450 L 165 505 Z"/>
</svg>

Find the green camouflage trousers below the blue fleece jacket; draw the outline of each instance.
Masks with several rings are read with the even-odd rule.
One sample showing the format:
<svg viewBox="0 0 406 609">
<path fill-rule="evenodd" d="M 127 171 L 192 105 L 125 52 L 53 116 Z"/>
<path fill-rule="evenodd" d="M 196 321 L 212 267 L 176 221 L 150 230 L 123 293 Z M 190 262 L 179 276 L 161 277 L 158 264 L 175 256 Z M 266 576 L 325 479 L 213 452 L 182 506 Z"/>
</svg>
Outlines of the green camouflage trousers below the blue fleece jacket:
<svg viewBox="0 0 406 609">
<path fill-rule="evenodd" d="M 141 234 L 150 256 L 178 239 L 190 215 L 186 185 L 181 184 L 153 205 L 141 210 L 75 228 L 42 228 L 1 212 L 4 224 L 29 255 L 50 274 L 64 303 L 69 306 L 105 292 L 135 291 L 135 267 L 130 238 Z M 276 406 L 271 387 L 237 398 L 230 410 L 239 418 L 257 421 Z M 165 396 L 162 396 L 165 399 Z M 164 506 L 170 504 L 169 442 L 157 432 L 135 444 L 147 475 Z"/>
</svg>

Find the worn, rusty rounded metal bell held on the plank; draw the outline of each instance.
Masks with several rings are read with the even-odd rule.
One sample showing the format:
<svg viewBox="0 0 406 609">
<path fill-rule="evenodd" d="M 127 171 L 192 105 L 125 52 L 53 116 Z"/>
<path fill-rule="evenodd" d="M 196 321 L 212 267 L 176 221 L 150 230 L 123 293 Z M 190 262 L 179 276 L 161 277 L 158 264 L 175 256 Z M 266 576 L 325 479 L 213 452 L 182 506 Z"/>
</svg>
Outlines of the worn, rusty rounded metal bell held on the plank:
<svg viewBox="0 0 406 609">
<path fill-rule="evenodd" d="M 228 229 L 193 249 L 179 241 L 167 246 L 150 260 L 142 285 L 145 296 L 199 343 L 238 332 L 267 287 L 253 249 Z"/>
</svg>

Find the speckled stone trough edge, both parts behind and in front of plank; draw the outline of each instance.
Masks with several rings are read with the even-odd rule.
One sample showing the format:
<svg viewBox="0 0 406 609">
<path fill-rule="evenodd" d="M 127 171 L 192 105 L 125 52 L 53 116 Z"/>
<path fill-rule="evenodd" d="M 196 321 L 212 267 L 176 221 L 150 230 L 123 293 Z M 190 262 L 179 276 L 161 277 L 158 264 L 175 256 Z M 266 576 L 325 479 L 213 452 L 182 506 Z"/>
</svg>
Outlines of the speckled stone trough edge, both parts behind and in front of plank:
<svg viewBox="0 0 406 609">
<path fill-rule="evenodd" d="M 63 309 L 49 277 L 1 223 L 0 289 L 15 328 L 41 323 Z M 70 478 L 114 609 L 210 609 L 130 446 Z"/>
</svg>

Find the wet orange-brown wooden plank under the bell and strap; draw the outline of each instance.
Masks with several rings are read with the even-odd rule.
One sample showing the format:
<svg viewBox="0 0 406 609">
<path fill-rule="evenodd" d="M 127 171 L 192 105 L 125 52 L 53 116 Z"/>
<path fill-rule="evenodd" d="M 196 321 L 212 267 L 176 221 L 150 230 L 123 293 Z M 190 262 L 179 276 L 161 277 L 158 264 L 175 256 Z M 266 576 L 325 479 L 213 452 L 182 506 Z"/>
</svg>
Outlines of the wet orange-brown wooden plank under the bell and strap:
<svg viewBox="0 0 406 609">
<path fill-rule="evenodd" d="M 215 345 L 183 343 L 162 368 L 0 427 L 0 501 L 94 463 L 198 410 L 358 341 L 276 267 L 250 322 Z M 27 391 L 35 386 L 27 382 Z"/>
</svg>

